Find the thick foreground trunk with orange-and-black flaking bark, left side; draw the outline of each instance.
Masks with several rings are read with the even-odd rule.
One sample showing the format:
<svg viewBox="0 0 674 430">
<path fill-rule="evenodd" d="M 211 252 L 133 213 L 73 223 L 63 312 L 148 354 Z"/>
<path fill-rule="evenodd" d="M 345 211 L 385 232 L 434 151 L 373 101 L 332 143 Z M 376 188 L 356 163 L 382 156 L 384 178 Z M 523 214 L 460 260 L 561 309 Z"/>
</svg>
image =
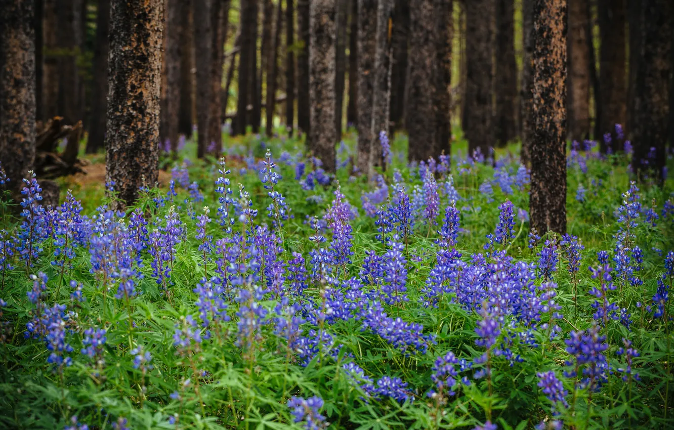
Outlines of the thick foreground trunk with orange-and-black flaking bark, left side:
<svg viewBox="0 0 674 430">
<path fill-rule="evenodd" d="M 105 179 L 119 206 L 158 179 L 163 15 L 163 0 L 111 3 Z"/>
</svg>

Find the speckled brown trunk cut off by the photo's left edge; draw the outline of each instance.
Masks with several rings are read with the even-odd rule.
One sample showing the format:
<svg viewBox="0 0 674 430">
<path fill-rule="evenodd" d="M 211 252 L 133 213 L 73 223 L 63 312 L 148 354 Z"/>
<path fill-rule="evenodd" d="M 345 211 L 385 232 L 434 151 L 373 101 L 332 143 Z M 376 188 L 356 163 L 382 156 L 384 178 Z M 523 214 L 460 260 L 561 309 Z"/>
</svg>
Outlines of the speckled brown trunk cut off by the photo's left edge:
<svg viewBox="0 0 674 430">
<path fill-rule="evenodd" d="M 18 191 L 35 162 L 35 10 L 23 0 L 0 10 L 0 162 Z"/>
</svg>

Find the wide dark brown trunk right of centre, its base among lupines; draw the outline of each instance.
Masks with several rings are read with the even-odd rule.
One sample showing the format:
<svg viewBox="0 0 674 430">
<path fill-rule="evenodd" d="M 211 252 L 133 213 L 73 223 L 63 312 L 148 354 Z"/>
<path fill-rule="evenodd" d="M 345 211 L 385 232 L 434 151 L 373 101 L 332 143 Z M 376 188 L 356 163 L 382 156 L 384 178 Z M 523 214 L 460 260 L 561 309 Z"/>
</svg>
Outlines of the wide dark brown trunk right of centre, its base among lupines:
<svg viewBox="0 0 674 430">
<path fill-rule="evenodd" d="M 435 7 L 433 0 L 410 1 L 408 101 L 405 124 L 409 134 L 409 160 L 426 160 L 439 155 L 433 75 L 435 53 Z"/>
</svg>

